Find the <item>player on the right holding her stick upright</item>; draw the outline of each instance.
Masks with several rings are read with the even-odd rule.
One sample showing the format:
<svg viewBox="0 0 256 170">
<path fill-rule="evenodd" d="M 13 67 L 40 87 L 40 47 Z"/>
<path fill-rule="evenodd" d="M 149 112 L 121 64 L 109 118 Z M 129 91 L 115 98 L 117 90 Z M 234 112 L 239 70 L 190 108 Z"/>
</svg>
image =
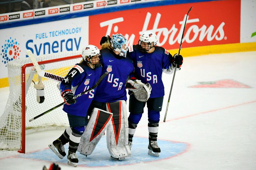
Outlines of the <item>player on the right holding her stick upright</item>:
<svg viewBox="0 0 256 170">
<path fill-rule="evenodd" d="M 162 110 L 164 86 L 162 72 L 172 74 L 177 65 L 181 68 L 183 58 L 175 54 L 174 57 L 162 47 L 155 46 L 158 42 L 157 36 L 151 31 L 144 32 L 139 37 L 137 45 L 129 47 L 129 56 L 135 67 L 135 77 L 142 83 L 149 83 L 152 91 L 147 102 L 138 101 L 134 95 L 129 98 L 129 146 L 132 146 L 132 139 L 136 127 L 141 119 L 143 109 L 147 103 L 148 108 L 148 131 L 149 144 L 148 154 L 159 156 L 160 147 L 157 144 L 160 111 Z M 154 152 L 154 153 L 153 153 Z"/>
</svg>

